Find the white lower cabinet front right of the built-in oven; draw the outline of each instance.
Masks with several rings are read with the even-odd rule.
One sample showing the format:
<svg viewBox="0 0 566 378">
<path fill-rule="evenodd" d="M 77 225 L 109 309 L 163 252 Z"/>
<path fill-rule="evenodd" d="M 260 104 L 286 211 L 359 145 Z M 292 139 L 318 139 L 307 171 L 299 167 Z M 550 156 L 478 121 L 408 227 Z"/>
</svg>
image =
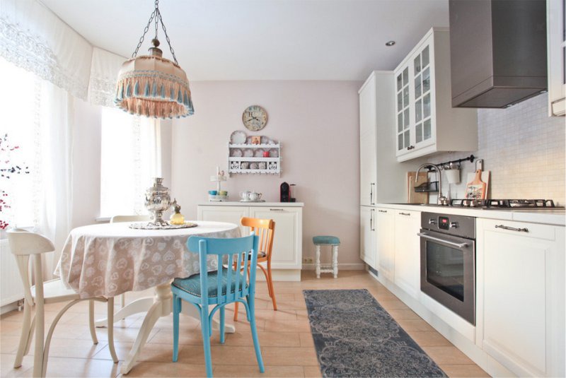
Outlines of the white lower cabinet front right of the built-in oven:
<svg viewBox="0 0 566 378">
<path fill-rule="evenodd" d="M 565 376 L 565 228 L 477 220 L 476 340 L 521 377 Z"/>
</svg>

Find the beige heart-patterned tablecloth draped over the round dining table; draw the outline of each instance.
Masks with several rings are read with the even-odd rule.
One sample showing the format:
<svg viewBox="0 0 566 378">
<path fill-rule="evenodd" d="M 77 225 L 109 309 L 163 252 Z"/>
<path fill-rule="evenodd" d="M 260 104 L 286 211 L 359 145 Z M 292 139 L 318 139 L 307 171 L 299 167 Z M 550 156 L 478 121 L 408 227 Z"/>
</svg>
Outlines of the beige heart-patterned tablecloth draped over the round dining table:
<svg viewBox="0 0 566 378">
<path fill-rule="evenodd" d="M 199 273 L 199 255 L 188 251 L 192 235 L 240 237 L 233 223 L 198 221 L 195 228 L 134 230 L 129 223 L 71 230 L 55 274 L 83 298 L 113 297 Z M 210 258 L 209 270 L 216 270 Z"/>
</svg>

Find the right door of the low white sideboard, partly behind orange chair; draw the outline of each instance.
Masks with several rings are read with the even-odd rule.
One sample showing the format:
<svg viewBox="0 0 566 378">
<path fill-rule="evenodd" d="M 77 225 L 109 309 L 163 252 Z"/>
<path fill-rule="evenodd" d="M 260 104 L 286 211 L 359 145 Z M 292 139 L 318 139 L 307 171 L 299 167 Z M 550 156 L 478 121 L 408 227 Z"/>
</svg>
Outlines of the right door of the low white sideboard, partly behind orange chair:
<svg viewBox="0 0 566 378">
<path fill-rule="evenodd" d="M 275 221 L 275 236 L 271 265 L 279 269 L 300 269 L 303 255 L 303 226 L 301 208 L 251 207 L 252 218 Z"/>
</svg>

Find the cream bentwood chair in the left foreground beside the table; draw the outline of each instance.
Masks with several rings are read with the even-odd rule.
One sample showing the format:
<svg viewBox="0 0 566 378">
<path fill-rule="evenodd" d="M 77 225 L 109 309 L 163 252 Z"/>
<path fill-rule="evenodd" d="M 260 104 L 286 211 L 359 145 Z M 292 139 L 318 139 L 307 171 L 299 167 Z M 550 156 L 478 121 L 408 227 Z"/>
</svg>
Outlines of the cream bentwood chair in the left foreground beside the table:
<svg viewBox="0 0 566 378">
<path fill-rule="evenodd" d="M 33 357 L 33 377 L 45 377 L 47 370 L 47 358 L 49 355 L 49 347 L 53 331 L 59 319 L 72 305 L 83 300 L 88 300 L 88 324 L 91 330 L 91 337 L 93 343 L 97 344 L 96 332 L 94 328 L 94 302 L 108 302 L 108 348 L 112 360 L 116 363 L 118 358 L 114 348 L 114 334 L 113 334 L 113 317 L 114 317 L 114 298 L 93 297 L 81 298 L 74 290 L 68 289 L 60 279 L 48 280 L 43 282 L 42 262 L 41 255 L 46 252 L 53 252 L 55 250 L 53 243 L 42 235 L 34 232 L 28 232 L 21 228 L 13 228 L 8 230 L 8 243 L 12 254 L 16 257 L 18 270 L 23 280 L 24 286 L 24 305 L 23 305 L 23 326 L 20 338 L 20 345 L 16 354 L 16 361 L 14 367 L 22 365 L 23 356 L 28 354 L 30 349 L 30 341 L 35 329 L 35 352 Z M 31 285 L 29 274 L 30 256 L 33 256 L 33 279 L 35 285 Z M 38 285 L 37 283 L 43 283 Z M 45 339 L 45 312 L 44 306 L 49 303 L 67 302 L 70 301 L 53 320 L 47 338 Z M 35 305 L 35 317 L 31 319 L 31 310 Z"/>
</svg>

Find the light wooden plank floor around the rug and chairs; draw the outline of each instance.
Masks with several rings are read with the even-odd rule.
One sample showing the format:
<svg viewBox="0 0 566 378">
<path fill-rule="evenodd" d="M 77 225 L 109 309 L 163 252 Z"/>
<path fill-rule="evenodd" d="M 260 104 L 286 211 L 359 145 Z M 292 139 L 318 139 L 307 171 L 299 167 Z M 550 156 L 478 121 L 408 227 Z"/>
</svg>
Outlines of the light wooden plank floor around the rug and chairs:
<svg viewBox="0 0 566 378">
<path fill-rule="evenodd" d="M 451 377 L 488 377 L 466 355 L 434 331 L 386 288 L 363 271 L 340 271 L 339 278 L 330 274 L 316 279 L 313 271 L 304 271 L 301 282 L 276 282 L 278 311 L 272 309 L 267 285 L 258 283 L 256 319 L 265 362 L 265 374 L 260 374 L 255 361 L 248 322 L 242 313 L 236 323 L 236 333 L 226 335 L 219 343 L 218 333 L 212 338 L 212 365 L 215 377 L 320 377 L 316 351 L 308 325 L 304 289 L 366 288 L 403 326 L 410 336 Z M 129 293 L 127 300 L 151 295 Z M 118 301 L 117 301 L 118 302 Z M 96 304 L 103 317 L 105 305 Z M 61 305 L 47 305 L 46 319 L 51 321 Z M 243 306 L 240 306 L 243 311 Z M 93 345 L 87 324 L 86 302 L 71 307 L 54 333 L 47 366 L 48 377 L 117 377 L 120 363 L 112 363 L 108 353 L 105 329 L 97 329 L 98 345 Z M 226 319 L 233 313 L 226 311 Z M 0 319 L 0 376 L 31 377 L 33 357 L 23 360 L 23 366 L 13 369 L 13 360 L 21 330 L 21 312 L 4 314 Z M 134 343 L 142 321 L 141 314 L 115 324 L 115 345 L 120 360 Z M 231 321 L 231 320 L 230 320 Z M 196 320 L 181 316 L 179 362 L 171 362 L 172 317 L 162 317 L 151 332 L 138 364 L 125 377 L 202 377 L 205 374 L 200 327 Z M 33 353 L 33 345 L 31 348 Z"/>
</svg>

